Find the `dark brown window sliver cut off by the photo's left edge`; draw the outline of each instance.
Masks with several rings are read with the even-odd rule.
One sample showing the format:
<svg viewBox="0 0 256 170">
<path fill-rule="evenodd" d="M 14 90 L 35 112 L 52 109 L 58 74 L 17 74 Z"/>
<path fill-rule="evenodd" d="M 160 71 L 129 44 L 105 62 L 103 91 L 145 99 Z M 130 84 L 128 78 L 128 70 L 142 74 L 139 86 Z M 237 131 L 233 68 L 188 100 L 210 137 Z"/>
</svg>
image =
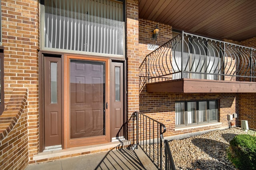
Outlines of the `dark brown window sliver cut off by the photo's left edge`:
<svg viewBox="0 0 256 170">
<path fill-rule="evenodd" d="M 0 46 L 0 115 L 4 111 L 4 49 Z"/>
</svg>

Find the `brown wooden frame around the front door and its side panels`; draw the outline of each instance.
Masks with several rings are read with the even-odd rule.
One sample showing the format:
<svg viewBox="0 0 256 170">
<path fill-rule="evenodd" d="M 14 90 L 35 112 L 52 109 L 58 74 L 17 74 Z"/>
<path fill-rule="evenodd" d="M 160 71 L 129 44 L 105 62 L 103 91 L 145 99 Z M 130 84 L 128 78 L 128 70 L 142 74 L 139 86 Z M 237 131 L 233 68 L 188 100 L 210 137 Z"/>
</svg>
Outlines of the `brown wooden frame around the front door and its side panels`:
<svg viewBox="0 0 256 170">
<path fill-rule="evenodd" d="M 123 57 L 102 57 L 102 55 L 98 56 L 98 55 L 78 55 L 75 53 L 71 53 L 71 54 L 64 54 L 62 52 L 54 52 L 54 51 L 45 51 L 45 50 L 40 50 L 39 51 L 39 61 L 38 61 L 38 116 L 39 116 L 39 128 L 38 128 L 38 132 L 35 133 L 35 135 L 39 134 L 39 152 L 43 152 L 45 146 L 44 146 L 44 56 L 48 56 L 48 57 L 61 57 L 62 61 L 62 84 L 65 85 L 64 79 L 66 80 L 66 78 L 64 77 L 64 64 L 65 64 L 65 56 L 66 55 L 71 55 L 71 56 L 77 56 L 77 57 L 81 57 L 81 59 L 85 59 L 86 57 L 88 59 L 98 59 L 98 60 L 108 60 L 108 71 L 109 71 L 109 67 L 111 64 L 111 61 L 120 61 L 120 62 L 124 62 L 124 138 L 128 138 L 128 128 L 127 128 L 127 62 L 126 62 L 126 58 Z M 91 58 L 92 57 L 92 58 Z M 107 68 L 106 68 L 107 69 Z M 110 81 L 110 76 L 108 73 L 108 82 Z M 106 80 L 107 81 L 107 80 Z M 110 92 L 110 89 L 108 89 L 108 92 Z M 64 94 L 64 88 L 62 88 L 62 94 Z M 106 101 L 109 100 L 109 97 Z M 64 96 L 62 97 L 62 109 L 64 111 L 65 109 L 65 104 L 64 104 Z M 108 101 L 109 103 L 110 101 Z M 65 110 L 66 111 L 66 110 Z M 65 114 L 65 113 L 64 113 Z M 109 118 L 108 118 L 109 119 Z M 64 119 L 64 116 L 62 116 L 62 149 L 66 149 L 67 148 L 67 140 L 66 140 L 66 127 L 64 127 L 64 121 L 66 121 Z M 108 120 L 109 121 L 109 120 Z M 109 122 L 108 122 L 108 128 L 109 127 Z M 107 142 L 111 142 L 110 141 L 110 134 L 108 134 L 108 141 Z M 90 144 L 91 145 L 91 144 Z"/>
</svg>

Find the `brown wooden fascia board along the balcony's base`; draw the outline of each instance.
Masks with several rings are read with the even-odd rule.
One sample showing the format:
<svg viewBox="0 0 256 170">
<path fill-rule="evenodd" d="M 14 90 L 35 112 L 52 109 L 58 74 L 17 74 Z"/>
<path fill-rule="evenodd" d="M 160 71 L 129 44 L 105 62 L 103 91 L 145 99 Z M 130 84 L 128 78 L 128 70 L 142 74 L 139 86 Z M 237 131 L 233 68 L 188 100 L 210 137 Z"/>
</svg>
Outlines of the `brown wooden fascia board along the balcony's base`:
<svg viewBox="0 0 256 170">
<path fill-rule="evenodd" d="M 182 78 L 147 84 L 147 92 L 256 93 L 256 82 Z"/>
</svg>

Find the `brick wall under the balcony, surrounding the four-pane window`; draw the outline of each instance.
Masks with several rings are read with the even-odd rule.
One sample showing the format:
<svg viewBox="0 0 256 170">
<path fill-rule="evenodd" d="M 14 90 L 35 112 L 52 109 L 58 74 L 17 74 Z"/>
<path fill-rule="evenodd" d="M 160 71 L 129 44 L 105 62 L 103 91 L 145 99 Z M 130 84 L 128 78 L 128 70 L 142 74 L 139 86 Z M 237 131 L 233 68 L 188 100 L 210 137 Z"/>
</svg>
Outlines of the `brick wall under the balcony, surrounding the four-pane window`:
<svg viewBox="0 0 256 170">
<path fill-rule="evenodd" d="M 182 131 L 175 130 L 175 101 L 189 100 L 218 100 L 219 121 L 218 127 L 228 127 L 228 115 L 238 113 L 236 106 L 237 94 L 181 94 L 181 93 L 153 93 L 146 92 L 146 88 L 140 92 L 140 112 L 160 121 L 166 125 L 165 136 L 179 135 L 217 128 L 216 126 L 191 128 Z M 231 121 L 232 125 L 238 125 L 238 119 Z M 175 131 L 174 131 L 175 130 Z"/>
</svg>

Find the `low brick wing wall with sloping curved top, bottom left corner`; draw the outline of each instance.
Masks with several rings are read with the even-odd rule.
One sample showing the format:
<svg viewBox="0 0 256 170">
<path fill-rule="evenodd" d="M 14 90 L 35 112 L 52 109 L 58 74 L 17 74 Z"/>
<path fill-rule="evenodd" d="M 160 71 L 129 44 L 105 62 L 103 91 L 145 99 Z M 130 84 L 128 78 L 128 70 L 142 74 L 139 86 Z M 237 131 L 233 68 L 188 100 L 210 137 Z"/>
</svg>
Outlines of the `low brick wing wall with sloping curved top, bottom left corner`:
<svg viewBox="0 0 256 170">
<path fill-rule="evenodd" d="M 6 92 L 10 98 L 0 116 L 0 169 L 24 169 L 28 165 L 27 89 Z"/>
</svg>

